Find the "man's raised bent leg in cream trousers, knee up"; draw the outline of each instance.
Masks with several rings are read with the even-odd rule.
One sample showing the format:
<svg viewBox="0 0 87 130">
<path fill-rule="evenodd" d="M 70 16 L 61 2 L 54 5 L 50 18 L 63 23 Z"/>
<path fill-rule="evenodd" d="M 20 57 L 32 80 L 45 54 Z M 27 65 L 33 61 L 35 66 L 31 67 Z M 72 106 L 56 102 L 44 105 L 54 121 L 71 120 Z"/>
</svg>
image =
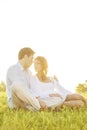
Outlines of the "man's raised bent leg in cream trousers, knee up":
<svg viewBox="0 0 87 130">
<path fill-rule="evenodd" d="M 12 93 L 19 99 L 17 104 L 23 106 L 24 104 L 31 105 L 35 110 L 40 109 L 39 101 L 20 83 L 16 83 L 12 86 Z M 15 99 L 16 100 L 16 99 Z M 20 102 L 20 103 L 19 103 Z"/>
</svg>

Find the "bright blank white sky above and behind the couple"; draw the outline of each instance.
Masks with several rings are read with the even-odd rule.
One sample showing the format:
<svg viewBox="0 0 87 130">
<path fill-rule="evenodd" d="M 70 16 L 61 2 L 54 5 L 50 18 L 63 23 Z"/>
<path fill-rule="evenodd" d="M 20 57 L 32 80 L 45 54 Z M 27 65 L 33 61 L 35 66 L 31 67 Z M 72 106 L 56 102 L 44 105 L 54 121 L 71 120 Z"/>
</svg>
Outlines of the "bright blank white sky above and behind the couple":
<svg viewBox="0 0 87 130">
<path fill-rule="evenodd" d="M 49 74 L 74 90 L 87 80 L 86 0 L 0 0 L 0 80 L 28 46 L 49 63 Z"/>
</svg>

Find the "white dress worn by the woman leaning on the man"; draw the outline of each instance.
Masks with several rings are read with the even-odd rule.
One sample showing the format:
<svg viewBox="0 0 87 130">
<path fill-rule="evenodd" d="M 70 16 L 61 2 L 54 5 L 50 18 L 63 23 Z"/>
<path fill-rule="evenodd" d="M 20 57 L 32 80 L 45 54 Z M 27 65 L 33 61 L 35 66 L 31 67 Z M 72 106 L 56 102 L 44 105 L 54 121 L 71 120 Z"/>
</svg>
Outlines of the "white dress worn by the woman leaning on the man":
<svg viewBox="0 0 87 130">
<path fill-rule="evenodd" d="M 30 78 L 30 89 L 31 93 L 35 97 L 40 97 L 48 107 L 55 107 L 61 105 L 66 98 L 66 96 L 63 98 L 49 96 L 49 94 L 56 94 L 56 93 L 61 94 L 63 96 L 60 90 L 58 90 L 57 81 L 53 79 L 51 79 L 51 82 L 44 83 L 41 82 L 36 76 L 32 76 Z"/>
</svg>

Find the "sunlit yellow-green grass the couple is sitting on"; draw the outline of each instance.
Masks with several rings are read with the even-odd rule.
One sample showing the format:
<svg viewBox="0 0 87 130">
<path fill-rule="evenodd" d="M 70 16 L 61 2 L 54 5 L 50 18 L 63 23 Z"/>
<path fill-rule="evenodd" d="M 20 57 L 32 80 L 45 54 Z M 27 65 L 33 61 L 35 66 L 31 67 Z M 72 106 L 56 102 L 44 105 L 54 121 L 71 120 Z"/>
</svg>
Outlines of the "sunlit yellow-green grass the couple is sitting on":
<svg viewBox="0 0 87 130">
<path fill-rule="evenodd" d="M 0 92 L 0 130 L 87 130 L 87 108 L 30 112 L 10 110 Z"/>
</svg>

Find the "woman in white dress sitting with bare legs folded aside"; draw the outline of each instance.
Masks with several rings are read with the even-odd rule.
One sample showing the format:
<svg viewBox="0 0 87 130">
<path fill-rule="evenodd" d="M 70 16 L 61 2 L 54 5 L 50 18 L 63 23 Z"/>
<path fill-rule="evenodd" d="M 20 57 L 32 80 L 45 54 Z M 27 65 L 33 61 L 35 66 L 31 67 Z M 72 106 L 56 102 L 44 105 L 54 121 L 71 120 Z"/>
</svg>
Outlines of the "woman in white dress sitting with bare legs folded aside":
<svg viewBox="0 0 87 130">
<path fill-rule="evenodd" d="M 85 104 L 85 99 L 79 94 L 72 94 L 64 89 L 59 82 L 47 76 L 47 60 L 38 56 L 34 60 L 36 75 L 30 80 L 31 91 L 41 103 L 41 107 L 56 107 L 61 104 L 68 107 L 79 107 Z"/>
</svg>

